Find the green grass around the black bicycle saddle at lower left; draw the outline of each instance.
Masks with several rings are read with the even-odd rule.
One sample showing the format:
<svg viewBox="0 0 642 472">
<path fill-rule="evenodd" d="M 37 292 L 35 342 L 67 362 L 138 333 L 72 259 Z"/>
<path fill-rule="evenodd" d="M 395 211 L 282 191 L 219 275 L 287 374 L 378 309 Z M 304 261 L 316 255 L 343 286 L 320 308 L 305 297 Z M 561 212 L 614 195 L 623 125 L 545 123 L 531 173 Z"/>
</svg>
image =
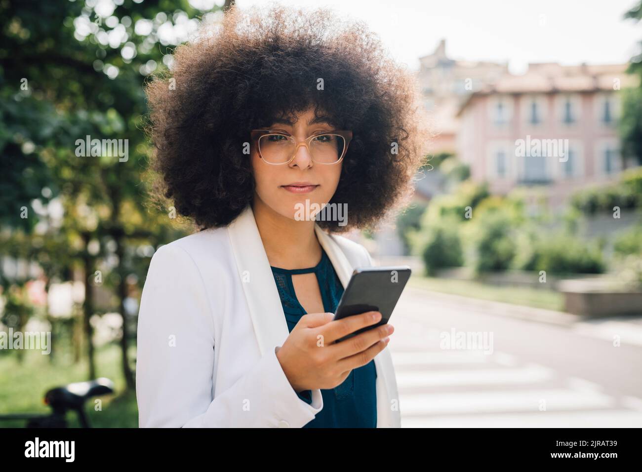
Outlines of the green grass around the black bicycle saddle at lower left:
<svg viewBox="0 0 642 472">
<path fill-rule="evenodd" d="M 66 383 L 87 380 L 86 358 L 73 363 L 71 353 L 56 352 L 53 359 L 40 351 L 22 351 L 22 363 L 15 351 L 0 351 L 0 415 L 49 413 L 42 399 L 47 390 Z M 121 373 L 121 354 L 117 345 L 96 349 L 96 376 L 114 381 L 115 393 L 101 397 L 102 409 L 96 411 L 92 398 L 85 404 L 89 423 L 95 428 L 137 428 L 138 409 L 134 390 L 125 391 Z M 67 415 L 70 428 L 80 427 L 76 415 Z M 23 428 L 22 420 L 0 421 L 0 428 Z"/>
</svg>

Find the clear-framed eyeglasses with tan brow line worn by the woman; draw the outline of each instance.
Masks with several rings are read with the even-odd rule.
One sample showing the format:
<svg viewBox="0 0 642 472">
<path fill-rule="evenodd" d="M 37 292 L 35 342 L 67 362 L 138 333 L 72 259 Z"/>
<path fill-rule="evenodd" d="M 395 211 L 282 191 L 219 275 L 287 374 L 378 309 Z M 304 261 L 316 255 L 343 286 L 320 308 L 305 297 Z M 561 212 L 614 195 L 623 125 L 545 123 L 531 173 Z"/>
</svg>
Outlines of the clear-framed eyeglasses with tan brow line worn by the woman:
<svg viewBox="0 0 642 472">
<path fill-rule="evenodd" d="M 299 146 L 306 146 L 312 161 L 318 164 L 338 164 L 348 150 L 352 131 L 324 131 L 297 143 L 295 137 L 283 131 L 252 130 L 250 136 L 257 144 L 259 157 L 268 164 L 290 164 Z"/>
</svg>

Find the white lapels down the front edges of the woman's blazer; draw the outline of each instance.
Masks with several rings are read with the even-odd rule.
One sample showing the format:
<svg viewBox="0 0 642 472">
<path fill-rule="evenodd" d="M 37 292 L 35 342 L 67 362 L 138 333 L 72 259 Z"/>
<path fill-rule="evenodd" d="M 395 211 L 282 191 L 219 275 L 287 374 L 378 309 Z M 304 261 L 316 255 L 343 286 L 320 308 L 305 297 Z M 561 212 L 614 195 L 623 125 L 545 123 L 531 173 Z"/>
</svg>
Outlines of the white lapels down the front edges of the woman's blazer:
<svg viewBox="0 0 642 472">
<path fill-rule="evenodd" d="M 265 355 L 267 349 L 282 345 L 290 332 L 283 313 L 279 290 L 270 268 L 270 261 L 265 253 L 261 234 L 259 234 L 250 205 L 247 205 L 243 212 L 230 223 L 227 231 L 259 350 L 261 355 Z M 332 236 L 317 224 L 315 224 L 315 232 L 345 289 L 354 270 L 351 263 Z M 385 351 L 377 354 L 374 358 L 377 371 L 377 427 L 381 425 L 392 426 L 389 407 L 390 392 L 388 391 L 388 376 L 390 375 L 388 370 L 392 369 L 390 367 L 392 363 L 385 362 L 381 358 L 381 354 Z"/>
</svg>

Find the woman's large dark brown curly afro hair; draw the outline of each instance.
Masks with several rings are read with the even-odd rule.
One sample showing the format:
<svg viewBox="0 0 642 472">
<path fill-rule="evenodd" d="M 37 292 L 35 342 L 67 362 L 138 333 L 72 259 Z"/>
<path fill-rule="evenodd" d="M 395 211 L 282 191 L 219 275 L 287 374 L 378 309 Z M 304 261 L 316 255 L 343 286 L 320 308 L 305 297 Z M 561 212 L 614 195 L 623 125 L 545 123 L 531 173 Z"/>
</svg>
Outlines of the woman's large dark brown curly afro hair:
<svg viewBox="0 0 642 472">
<path fill-rule="evenodd" d="M 229 225 L 252 201 L 250 130 L 309 107 L 354 135 L 330 201 L 347 204 L 351 218 L 318 221 L 327 231 L 376 227 L 412 195 L 426 159 L 412 74 L 363 22 L 331 10 L 233 6 L 178 46 L 171 72 L 146 93 L 161 191 L 200 229 Z"/>
</svg>

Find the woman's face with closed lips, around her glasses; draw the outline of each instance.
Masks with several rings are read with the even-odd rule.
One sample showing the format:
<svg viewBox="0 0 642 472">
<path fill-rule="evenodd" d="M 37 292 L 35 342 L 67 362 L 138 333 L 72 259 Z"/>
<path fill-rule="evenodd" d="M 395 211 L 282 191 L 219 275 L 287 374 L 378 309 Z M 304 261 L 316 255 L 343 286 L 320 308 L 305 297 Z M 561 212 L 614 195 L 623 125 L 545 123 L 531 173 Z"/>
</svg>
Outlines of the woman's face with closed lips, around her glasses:
<svg viewBox="0 0 642 472">
<path fill-rule="evenodd" d="M 335 129 L 325 121 L 315 123 L 314 119 L 314 110 L 309 109 L 299 114 L 293 125 L 277 121 L 265 128 L 291 134 L 297 143 L 317 132 Z M 315 208 L 321 209 L 331 200 L 339 183 L 343 161 L 338 164 L 313 162 L 306 146 L 297 148 L 290 164 L 268 164 L 259 157 L 254 145 L 251 154 L 256 183 L 255 198 L 258 197 L 273 211 L 292 220 L 301 219 L 301 209 L 309 208 L 311 214 L 315 213 Z M 309 200 L 308 204 L 306 200 Z"/>
</svg>

